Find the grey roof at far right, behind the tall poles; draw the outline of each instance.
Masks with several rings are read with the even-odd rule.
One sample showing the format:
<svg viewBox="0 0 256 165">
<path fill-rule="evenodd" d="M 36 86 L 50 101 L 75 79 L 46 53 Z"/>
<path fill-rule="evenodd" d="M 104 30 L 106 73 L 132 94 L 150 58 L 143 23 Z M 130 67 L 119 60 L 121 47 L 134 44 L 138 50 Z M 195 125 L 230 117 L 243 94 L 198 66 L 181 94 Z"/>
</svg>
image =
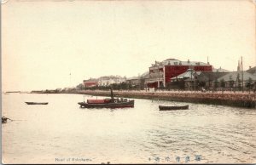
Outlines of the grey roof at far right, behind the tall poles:
<svg viewBox="0 0 256 165">
<path fill-rule="evenodd" d="M 236 81 L 237 76 L 239 76 L 239 79 L 241 80 L 241 71 L 231 71 L 223 77 L 219 77 L 218 81 L 221 81 L 222 79 L 224 79 L 225 82 L 230 80 Z M 243 80 L 247 82 L 249 78 L 252 78 L 253 81 L 256 81 L 256 76 L 254 76 L 251 73 L 248 73 L 247 71 L 243 71 Z"/>
</svg>

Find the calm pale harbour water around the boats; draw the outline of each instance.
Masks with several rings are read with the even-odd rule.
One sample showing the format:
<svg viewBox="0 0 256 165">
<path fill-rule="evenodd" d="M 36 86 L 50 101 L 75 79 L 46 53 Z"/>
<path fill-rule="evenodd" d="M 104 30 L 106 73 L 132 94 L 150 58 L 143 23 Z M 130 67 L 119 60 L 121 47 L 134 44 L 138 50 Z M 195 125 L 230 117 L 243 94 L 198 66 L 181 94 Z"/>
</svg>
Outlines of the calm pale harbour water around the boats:
<svg viewBox="0 0 256 165">
<path fill-rule="evenodd" d="M 255 109 L 159 111 L 185 103 L 135 100 L 135 108 L 96 110 L 79 108 L 79 94 L 2 96 L 2 115 L 16 120 L 2 124 L 5 163 L 256 162 Z"/>
</svg>

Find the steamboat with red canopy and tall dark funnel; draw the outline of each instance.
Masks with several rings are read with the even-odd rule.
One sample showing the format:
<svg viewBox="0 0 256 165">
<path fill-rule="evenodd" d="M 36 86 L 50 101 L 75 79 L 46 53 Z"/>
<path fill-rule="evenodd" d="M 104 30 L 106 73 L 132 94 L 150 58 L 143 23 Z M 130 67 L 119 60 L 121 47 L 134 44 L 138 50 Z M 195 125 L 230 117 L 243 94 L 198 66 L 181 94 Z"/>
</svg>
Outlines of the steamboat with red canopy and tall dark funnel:
<svg viewBox="0 0 256 165">
<path fill-rule="evenodd" d="M 111 89 L 110 99 L 87 100 L 87 102 L 79 102 L 78 104 L 82 108 L 126 108 L 134 107 L 134 100 L 113 98 L 113 90 Z"/>
</svg>

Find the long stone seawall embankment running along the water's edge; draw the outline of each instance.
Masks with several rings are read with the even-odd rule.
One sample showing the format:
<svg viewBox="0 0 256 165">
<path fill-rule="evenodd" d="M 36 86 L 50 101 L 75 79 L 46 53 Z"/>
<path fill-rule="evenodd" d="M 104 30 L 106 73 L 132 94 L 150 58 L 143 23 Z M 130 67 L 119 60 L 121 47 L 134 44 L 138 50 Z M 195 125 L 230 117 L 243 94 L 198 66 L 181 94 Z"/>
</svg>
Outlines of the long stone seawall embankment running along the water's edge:
<svg viewBox="0 0 256 165">
<path fill-rule="evenodd" d="M 58 93 L 32 92 L 32 94 L 88 94 L 97 96 L 109 96 L 109 91 L 104 90 L 79 90 Z M 169 100 L 177 102 L 189 102 L 206 105 L 228 105 L 244 108 L 256 108 L 256 94 L 247 92 L 206 92 L 199 91 L 113 91 L 114 97 L 125 97 L 147 100 Z"/>
</svg>

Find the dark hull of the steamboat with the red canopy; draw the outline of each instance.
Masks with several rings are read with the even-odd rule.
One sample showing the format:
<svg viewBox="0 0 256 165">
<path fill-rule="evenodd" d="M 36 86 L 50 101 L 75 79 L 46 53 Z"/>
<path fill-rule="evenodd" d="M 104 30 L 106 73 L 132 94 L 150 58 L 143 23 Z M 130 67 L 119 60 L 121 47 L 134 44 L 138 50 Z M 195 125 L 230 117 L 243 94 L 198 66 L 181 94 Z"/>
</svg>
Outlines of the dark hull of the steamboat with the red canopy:
<svg viewBox="0 0 256 165">
<path fill-rule="evenodd" d="M 106 103 L 106 104 L 89 104 L 84 102 L 78 103 L 82 108 L 132 108 L 134 107 L 134 100 L 117 103 Z"/>
</svg>

